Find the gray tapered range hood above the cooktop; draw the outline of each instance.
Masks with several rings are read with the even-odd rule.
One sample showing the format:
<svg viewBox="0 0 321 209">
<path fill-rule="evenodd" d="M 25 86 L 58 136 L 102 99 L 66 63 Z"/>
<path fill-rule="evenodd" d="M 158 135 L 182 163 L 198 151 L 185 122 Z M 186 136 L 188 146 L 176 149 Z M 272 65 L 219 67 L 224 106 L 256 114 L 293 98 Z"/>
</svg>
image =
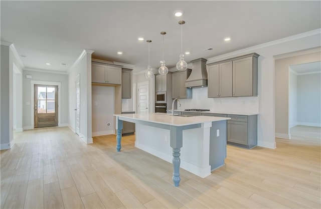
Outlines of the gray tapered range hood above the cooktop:
<svg viewBox="0 0 321 209">
<path fill-rule="evenodd" d="M 205 58 L 194 59 L 192 72 L 185 81 L 185 87 L 203 87 L 207 86 L 207 71 Z"/>
</svg>

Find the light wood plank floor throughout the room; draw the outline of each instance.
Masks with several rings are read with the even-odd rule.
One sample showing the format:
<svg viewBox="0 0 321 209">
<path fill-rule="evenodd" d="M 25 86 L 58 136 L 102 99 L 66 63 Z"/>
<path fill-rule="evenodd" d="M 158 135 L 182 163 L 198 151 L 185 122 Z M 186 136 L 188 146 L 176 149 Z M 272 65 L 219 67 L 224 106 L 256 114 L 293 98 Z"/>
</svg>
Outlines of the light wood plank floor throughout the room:
<svg viewBox="0 0 321 209">
<path fill-rule="evenodd" d="M 85 144 L 67 127 L 28 130 L 1 151 L 2 208 L 320 208 L 320 145 L 277 139 L 277 148 L 228 146 L 206 178 L 115 135 Z"/>
</svg>

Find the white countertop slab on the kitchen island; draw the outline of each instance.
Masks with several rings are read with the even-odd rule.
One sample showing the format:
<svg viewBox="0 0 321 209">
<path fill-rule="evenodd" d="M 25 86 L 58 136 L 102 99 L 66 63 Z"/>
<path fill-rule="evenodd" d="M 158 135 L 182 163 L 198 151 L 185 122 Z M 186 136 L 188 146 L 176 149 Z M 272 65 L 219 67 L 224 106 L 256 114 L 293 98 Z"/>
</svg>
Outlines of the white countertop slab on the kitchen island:
<svg viewBox="0 0 321 209">
<path fill-rule="evenodd" d="M 118 117 L 125 117 L 129 119 L 135 120 L 142 120 L 147 122 L 155 122 L 160 124 L 166 125 L 173 125 L 173 126 L 184 126 L 184 125 L 191 125 L 191 124 L 198 124 L 203 122 L 213 122 L 213 121 L 220 121 L 220 120 L 227 120 L 231 119 L 229 117 L 212 117 L 212 116 L 173 116 L 168 113 L 147 113 L 147 114 L 114 114 L 114 116 Z"/>
</svg>

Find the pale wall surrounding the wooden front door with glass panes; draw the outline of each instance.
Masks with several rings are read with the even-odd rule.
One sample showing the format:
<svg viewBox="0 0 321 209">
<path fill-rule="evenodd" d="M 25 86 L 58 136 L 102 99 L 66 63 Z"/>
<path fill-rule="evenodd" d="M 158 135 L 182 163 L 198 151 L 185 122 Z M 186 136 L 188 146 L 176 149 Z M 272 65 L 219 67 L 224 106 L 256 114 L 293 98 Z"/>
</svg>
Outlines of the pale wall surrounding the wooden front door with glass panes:
<svg viewBox="0 0 321 209">
<path fill-rule="evenodd" d="M 32 75 L 32 78 L 26 78 L 26 75 Z M 41 71 L 24 70 L 23 72 L 23 126 L 24 129 L 34 128 L 33 111 L 31 104 L 33 103 L 34 92 L 33 83 L 41 82 L 57 82 L 61 83 L 58 93 L 60 93 L 60 113 L 58 112 L 58 123 L 60 126 L 68 125 L 68 75 L 61 73 L 50 73 Z"/>
</svg>

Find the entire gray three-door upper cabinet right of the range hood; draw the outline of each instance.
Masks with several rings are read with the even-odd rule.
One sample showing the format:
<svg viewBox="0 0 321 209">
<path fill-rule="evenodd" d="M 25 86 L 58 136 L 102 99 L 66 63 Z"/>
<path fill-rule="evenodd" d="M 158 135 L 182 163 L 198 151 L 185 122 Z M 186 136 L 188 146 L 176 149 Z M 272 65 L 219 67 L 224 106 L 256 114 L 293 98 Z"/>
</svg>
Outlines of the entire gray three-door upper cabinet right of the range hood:
<svg viewBox="0 0 321 209">
<path fill-rule="evenodd" d="M 251 53 L 208 64 L 208 97 L 257 96 L 257 57 Z"/>
</svg>

